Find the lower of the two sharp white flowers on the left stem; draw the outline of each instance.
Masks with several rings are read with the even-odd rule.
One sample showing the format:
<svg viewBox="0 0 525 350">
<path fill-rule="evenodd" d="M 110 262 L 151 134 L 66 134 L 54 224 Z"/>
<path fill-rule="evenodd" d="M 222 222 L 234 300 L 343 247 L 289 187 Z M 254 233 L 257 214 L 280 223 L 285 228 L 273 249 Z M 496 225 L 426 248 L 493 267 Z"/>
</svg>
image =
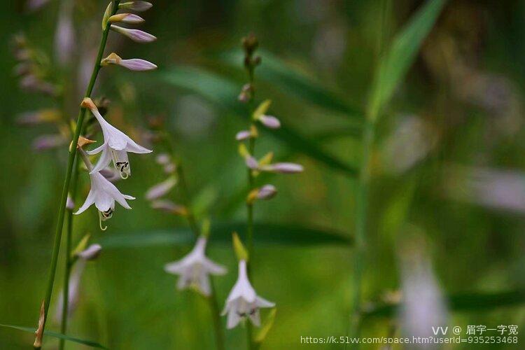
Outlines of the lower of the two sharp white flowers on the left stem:
<svg viewBox="0 0 525 350">
<path fill-rule="evenodd" d="M 115 202 L 118 202 L 125 209 L 131 209 L 130 205 L 127 204 L 126 200 L 134 200 L 135 197 L 130 195 L 123 195 L 120 193 L 118 188 L 116 188 L 113 183 L 109 182 L 102 174 L 96 172 L 94 174 L 90 173 L 91 179 L 91 190 L 87 195 L 84 204 L 82 207 L 78 208 L 76 215 L 83 213 L 87 208 L 91 207 L 94 204 L 95 207 L 99 210 L 99 218 L 101 221 L 106 221 L 107 219 L 113 216 L 113 211 L 115 211 Z"/>
</svg>

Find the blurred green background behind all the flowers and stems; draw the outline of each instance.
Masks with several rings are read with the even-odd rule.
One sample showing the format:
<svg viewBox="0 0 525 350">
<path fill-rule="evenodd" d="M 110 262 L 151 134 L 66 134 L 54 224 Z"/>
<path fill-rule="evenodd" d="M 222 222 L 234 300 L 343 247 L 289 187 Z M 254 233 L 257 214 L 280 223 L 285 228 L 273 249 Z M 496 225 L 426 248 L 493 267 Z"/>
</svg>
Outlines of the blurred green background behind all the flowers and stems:
<svg viewBox="0 0 525 350">
<path fill-rule="evenodd" d="M 139 45 L 111 34 L 107 53 L 148 59 L 159 69 L 103 69 L 93 97 L 107 97 L 109 120 L 145 143 L 152 118 L 165 121 L 195 207 L 212 226 L 245 220 L 246 172 L 235 142 L 247 123 L 236 100 L 246 83 L 240 40 L 250 31 L 259 38 L 257 94 L 272 99 L 271 111 L 287 130 L 262 134 L 259 155 L 274 151 L 305 171 L 268 177 L 279 195 L 258 203 L 255 218 L 316 230 L 255 232 L 253 284 L 277 304 L 263 349 L 300 348 L 300 336 L 347 334 L 353 170 L 372 78 L 381 53 L 422 3 L 155 0 L 141 15 L 158 41 Z M 38 138 L 56 134 L 55 128 L 17 120 L 50 108 L 76 116 L 105 7 L 106 1 L 83 0 L 2 4 L 0 323 L 36 325 L 69 142 L 38 151 Z M 525 325 L 524 18 L 523 1 L 449 1 L 381 113 L 372 152 L 363 335 L 406 334 L 435 320 L 463 330 Z M 73 25 L 73 46 L 57 43 L 64 21 Z M 63 102 L 20 86 L 13 72 L 13 38 L 20 34 L 40 52 L 45 77 L 64 87 Z M 183 219 L 154 211 L 144 199 L 165 179 L 155 154 L 132 156 L 132 172 L 118 185 L 137 197 L 132 211 L 117 209 L 106 232 L 94 209 L 76 218 L 75 241 L 89 232 L 104 251 L 87 264 L 69 334 L 111 349 L 214 349 L 207 304 L 177 291 L 175 276 L 162 269 L 191 242 Z M 85 174 L 80 179 L 79 201 L 89 186 Z M 141 239 L 170 234 L 179 243 Z M 216 279 L 221 304 L 237 274 L 228 236 L 214 237 L 209 246 L 211 258 L 230 270 Z M 53 300 L 62 288 L 62 265 Z M 400 300 L 404 311 L 389 307 Z M 49 329 L 59 329 L 54 309 L 50 316 Z M 228 349 L 244 348 L 242 327 L 226 336 Z M 1 349 L 27 349 L 32 339 L 0 328 Z M 56 346 L 46 339 L 50 349 Z"/>
</svg>

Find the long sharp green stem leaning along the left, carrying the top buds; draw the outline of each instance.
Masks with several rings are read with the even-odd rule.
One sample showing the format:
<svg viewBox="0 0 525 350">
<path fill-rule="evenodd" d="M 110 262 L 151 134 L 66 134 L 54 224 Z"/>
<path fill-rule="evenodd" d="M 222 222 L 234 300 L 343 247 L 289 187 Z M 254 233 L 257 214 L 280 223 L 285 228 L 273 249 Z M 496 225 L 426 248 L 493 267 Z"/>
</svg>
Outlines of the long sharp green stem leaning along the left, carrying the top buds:
<svg viewBox="0 0 525 350">
<path fill-rule="evenodd" d="M 117 12 L 119 2 L 120 0 L 113 1 L 113 9 L 111 10 L 111 15 L 114 15 Z M 102 61 L 102 56 L 104 55 L 104 49 L 106 48 L 106 41 L 108 40 L 108 34 L 109 34 L 110 27 L 111 26 L 109 25 L 106 26 L 106 29 L 104 29 L 104 31 L 102 32 L 102 39 L 99 45 L 99 52 L 97 55 L 97 60 L 94 63 L 93 72 L 91 74 L 90 83 L 89 85 L 87 85 L 85 97 L 91 96 L 91 93 L 94 87 L 94 83 L 97 80 L 97 76 L 101 68 L 100 62 Z M 48 319 L 49 305 L 51 302 L 53 285 L 55 283 L 55 274 L 57 272 L 57 262 L 58 262 L 58 254 L 60 250 L 60 241 L 62 240 L 62 229 L 64 227 L 64 216 L 65 216 L 65 211 L 66 211 L 67 194 L 69 192 L 69 186 L 71 184 L 71 176 L 73 174 L 73 165 L 76 159 L 76 145 L 78 144 L 78 138 L 80 137 L 80 131 L 82 130 L 84 118 L 85 118 L 85 109 L 80 108 L 80 111 L 78 112 L 78 118 L 76 121 L 75 132 L 73 134 L 73 139 L 71 141 L 71 147 L 69 149 L 69 158 L 67 162 L 64 186 L 62 188 L 62 197 L 60 198 L 60 202 L 59 202 L 57 228 L 55 230 L 55 241 L 53 244 L 52 258 L 50 262 L 48 286 L 45 289 L 45 299 L 43 302 L 43 320 L 41 324 L 41 329 L 39 329 L 40 331 L 39 334 L 41 335 L 43 335 L 43 332 L 45 330 L 45 323 Z M 41 338 L 39 339 L 38 335 L 35 339 L 34 349 L 41 349 Z"/>
</svg>

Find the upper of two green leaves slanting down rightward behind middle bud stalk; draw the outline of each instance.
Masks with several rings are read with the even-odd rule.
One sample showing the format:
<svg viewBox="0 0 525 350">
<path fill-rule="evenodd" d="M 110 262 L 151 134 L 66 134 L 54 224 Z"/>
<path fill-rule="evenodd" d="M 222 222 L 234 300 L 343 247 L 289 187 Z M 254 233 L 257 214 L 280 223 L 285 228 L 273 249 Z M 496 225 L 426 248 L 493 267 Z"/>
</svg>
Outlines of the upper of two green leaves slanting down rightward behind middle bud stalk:
<svg viewBox="0 0 525 350">
<path fill-rule="evenodd" d="M 258 55 L 262 58 L 262 64 L 257 68 L 258 79 L 272 83 L 283 92 L 293 94 L 323 109 L 343 113 L 350 118 L 363 119 L 363 111 L 351 106 L 339 94 L 330 91 L 295 67 L 265 50 L 259 50 Z M 241 50 L 235 50 L 220 55 L 219 59 L 231 68 L 241 69 L 243 57 Z"/>
</svg>

